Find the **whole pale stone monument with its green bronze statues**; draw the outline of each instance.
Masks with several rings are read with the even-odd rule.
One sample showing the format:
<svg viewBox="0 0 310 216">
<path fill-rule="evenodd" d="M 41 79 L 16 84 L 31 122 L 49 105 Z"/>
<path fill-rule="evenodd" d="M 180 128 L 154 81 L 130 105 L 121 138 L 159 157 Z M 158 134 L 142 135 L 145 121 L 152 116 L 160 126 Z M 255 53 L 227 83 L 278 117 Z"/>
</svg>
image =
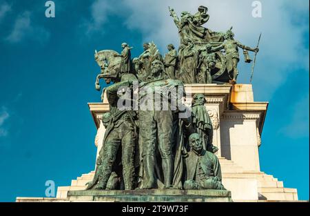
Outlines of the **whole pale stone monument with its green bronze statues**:
<svg viewBox="0 0 310 216">
<path fill-rule="evenodd" d="M 95 170 L 59 187 L 57 197 L 17 202 L 244 202 L 298 200 L 297 190 L 260 171 L 258 148 L 267 102 L 236 84 L 239 48 L 232 28 L 203 27 L 208 8 L 169 8 L 180 45 L 163 57 L 154 42 L 131 58 L 122 43 L 95 52 L 101 103 L 89 108 L 98 128 Z M 255 63 L 255 61 L 254 61 Z M 112 84 L 111 84 L 112 82 Z"/>
</svg>

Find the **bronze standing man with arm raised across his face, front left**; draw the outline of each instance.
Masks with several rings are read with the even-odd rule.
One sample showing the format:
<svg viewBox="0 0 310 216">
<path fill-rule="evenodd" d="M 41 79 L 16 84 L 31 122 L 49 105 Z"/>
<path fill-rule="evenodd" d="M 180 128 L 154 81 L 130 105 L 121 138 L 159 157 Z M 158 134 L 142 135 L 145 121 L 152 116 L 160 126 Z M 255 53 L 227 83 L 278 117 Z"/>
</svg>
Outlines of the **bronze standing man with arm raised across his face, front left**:
<svg viewBox="0 0 310 216">
<path fill-rule="evenodd" d="M 129 77 L 123 75 L 122 79 Z M 125 79 L 124 78 L 124 79 Z M 111 120 L 105 131 L 103 147 L 100 155 L 100 166 L 95 173 L 98 175 L 87 189 L 94 188 L 105 190 L 112 170 L 116 166 L 116 156 L 121 151 L 121 164 L 123 165 L 123 181 L 125 190 L 134 189 L 134 150 L 136 148 L 136 129 L 134 124 L 135 112 L 118 108 L 120 88 L 132 85 L 130 80 L 125 80 L 106 88 L 107 100 L 110 104 Z"/>
</svg>

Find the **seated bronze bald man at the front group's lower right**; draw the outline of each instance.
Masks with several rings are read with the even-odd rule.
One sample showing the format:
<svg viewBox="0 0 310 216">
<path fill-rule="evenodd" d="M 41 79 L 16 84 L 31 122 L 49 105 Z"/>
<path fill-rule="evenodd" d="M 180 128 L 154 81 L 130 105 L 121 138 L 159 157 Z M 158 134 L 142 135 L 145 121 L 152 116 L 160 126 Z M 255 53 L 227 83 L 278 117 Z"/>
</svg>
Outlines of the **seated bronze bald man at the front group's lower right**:
<svg viewBox="0 0 310 216">
<path fill-rule="evenodd" d="M 198 133 L 189 136 L 189 151 L 185 158 L 185 190 L 226 190 L 222 184 L 220 162 L 213 153 L 203 149 L 203 140 Z"/>
</svg>

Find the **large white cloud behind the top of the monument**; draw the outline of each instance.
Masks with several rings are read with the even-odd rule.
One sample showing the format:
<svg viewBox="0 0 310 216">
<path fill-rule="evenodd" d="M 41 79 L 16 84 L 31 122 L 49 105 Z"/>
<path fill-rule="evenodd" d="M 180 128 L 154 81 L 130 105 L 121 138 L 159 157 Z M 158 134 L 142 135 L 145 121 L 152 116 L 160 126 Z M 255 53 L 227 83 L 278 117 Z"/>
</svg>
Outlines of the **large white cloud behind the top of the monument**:
<svg viewBox="0 0 310 216">
<path fill-rule="evenodd" d="M 256 46 L 258 35 L 262 32 L 254 88 L 256 92 L 260 92 L 260 99 L 269 100 L 276 89 L 285 82 L 290 71 L 296 68 L 309 70 L 309 50 L 301 43 L 304 32 L 309 29 L 309 1 L 261 0 L 262 18 L 251 16 L 252 2 L 125 0 L 116 4 L 113 1 L 97 0 L 91 7 L 92 20 L 96 27 L 92 30 L 101 30 L 109 12 L 117 12 L 124 19 L 127 28 L 142 32 L 143 40 L 154 41 L 163 53 L 166 52 L 165 46 L 168 43 L 179 43 L 178 30 L 172 17 L 169 17 L 168 6 L 174 8 L 178 14 L 184 10 L 194 13 L 198 6 L 207 6 L 210 19 L 205 27 L 211 30 L 223 32 L 234 26 L 236 39 L 252 47 Z M 239 70 L 238 82 L 249 83 L 251 65 L 245 65 L 242 57 Z"/>
</svg>

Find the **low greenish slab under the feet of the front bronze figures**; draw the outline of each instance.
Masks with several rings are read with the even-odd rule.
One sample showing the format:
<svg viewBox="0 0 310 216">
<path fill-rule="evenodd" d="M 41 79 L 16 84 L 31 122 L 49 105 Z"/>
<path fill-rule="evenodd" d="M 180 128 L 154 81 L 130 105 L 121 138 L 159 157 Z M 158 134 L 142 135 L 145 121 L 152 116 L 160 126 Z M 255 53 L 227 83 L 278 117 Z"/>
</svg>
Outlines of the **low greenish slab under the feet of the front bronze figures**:
<svg viewBox="0 0 310 216">
<path fill-rule="evenodd" d="M 70 202 L 231 202 L 229 190 L 71 190 Z"/>
</svg>

